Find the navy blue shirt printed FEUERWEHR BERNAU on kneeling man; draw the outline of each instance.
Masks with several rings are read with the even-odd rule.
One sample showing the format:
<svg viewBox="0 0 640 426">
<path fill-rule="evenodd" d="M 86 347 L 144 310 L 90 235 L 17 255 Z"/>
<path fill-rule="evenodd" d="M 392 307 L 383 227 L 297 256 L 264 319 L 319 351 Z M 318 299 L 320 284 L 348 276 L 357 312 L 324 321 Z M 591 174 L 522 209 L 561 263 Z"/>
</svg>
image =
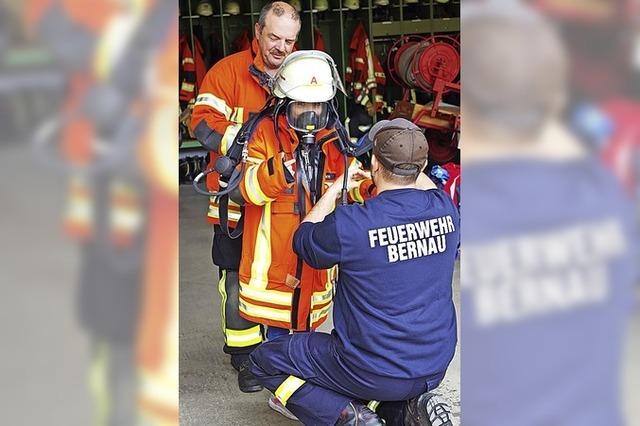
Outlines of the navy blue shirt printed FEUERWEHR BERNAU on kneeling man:
<svg viewBox="0 0 640 426">
<path fill-rule="evenodd" d="M 380 376 L 443 375 L 456 344 L 451 283 L 459 215 L 440 190 L 385 191 L 303 223 L 294 250 L 339 265 L 333 321 L 348 364 Z"/>
</svg>

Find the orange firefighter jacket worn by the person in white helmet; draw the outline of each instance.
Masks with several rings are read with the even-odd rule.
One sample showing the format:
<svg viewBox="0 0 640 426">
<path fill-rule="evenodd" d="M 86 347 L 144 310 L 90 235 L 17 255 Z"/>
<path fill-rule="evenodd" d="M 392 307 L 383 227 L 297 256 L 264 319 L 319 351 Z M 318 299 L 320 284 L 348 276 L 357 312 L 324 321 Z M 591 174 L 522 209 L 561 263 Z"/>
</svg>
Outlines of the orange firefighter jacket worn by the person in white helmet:
<svg viewBox="0 0 640 426">
<path fill-rule="evenodd" d="M 293 159 L 298 136 L 284 117 L 280 117 L 278 125 L 284 159 Z M 316 141 L 331 133 L 319 131 Z M 333 143 L 336 139 L 334 136 L 322 146 L 324 161 L 319 163 L 323 164 L 323 193 L 344 172 L 344 158 Z M 277 140 L 273 119 L 263 119 L 249 142 L 240 183 L 246 201 L 239 274 L 240 315 L 275 327 L 310 330 L 322 324 L 329 313 L 337 270 L 316 270 L 303 264 L 300 282 L 296 280 L 298 258 L 292 241 L 301 220 L 299 188 L 296 180 L 288 184 L 285 179 Z M 361 194 L 370 185 L 370 181 L 361 184 Z M 308 191 L 305 201 L 304 211 L 309 212 L 312 205 Z"/>
</svg>

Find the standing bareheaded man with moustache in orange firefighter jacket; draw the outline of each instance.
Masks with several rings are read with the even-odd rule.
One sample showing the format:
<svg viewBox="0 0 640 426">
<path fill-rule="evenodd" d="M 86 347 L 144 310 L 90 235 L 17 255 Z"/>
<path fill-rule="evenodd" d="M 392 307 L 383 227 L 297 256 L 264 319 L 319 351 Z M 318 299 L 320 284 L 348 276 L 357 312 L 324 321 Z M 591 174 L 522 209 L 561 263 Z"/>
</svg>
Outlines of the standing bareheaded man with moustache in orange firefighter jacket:
<svg viewBox="0 0 640 426">
<path fill-rule="evenodd" d="M 193 109 L 191 126 L 196 138 L 209 150 L 211 167 L 224 155 L 242 123 L 259 112 L 269 94 L 273 75 L 282 64 L 300 31 L 300 17 L 284 2 L 268 3 L 255 25 L 251 49 L 230 55 L 216 63 L 205 76 Z M 219 175 L 207 176 L 209 191 L 219 188 Z M 229 202 L 229 227 L 240 219 L 240 206 Z M 262 341 L 259 324 L 238 314 L 238 268 L 241 240 L 229 238 L 220 228 L 217 201 L 211 197 L 209 222 L 214 225 L 212 259 L 218 266 L 224 318 L 224 352 L 238 370 L 243 392 L 262 390 L 248 369 L 249 354 Z"/>
</svg>

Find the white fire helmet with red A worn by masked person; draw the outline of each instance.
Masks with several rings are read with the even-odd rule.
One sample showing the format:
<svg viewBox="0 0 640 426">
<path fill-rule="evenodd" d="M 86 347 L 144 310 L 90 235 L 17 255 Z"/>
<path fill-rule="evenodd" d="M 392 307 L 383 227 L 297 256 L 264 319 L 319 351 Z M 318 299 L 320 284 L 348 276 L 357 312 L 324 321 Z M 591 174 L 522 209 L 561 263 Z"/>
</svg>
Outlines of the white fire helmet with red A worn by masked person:
<svg viewBox="0 0 640 426">
<path fill-rule="evenodd" d="M 344 92 L 336 64 L 325 52 L 298 50 L 282 62 L 274 77 L 273 94 L 301 102 L 326 102 Z"/>
</svg>

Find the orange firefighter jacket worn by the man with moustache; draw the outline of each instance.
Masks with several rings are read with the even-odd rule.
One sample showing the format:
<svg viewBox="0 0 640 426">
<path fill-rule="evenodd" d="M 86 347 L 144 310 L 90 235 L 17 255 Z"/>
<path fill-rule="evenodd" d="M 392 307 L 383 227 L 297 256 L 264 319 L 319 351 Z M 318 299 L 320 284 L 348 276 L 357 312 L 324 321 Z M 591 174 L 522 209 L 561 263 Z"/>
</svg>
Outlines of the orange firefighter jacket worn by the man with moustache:
<svg viewBox="0 0 640 426">
<path fill-rule="evenodd" d="M 264 72 L 264 62 L 259 55 L 258 43 L 253 41 L 250 50 L 229 55 L 218 61 L 204 78 L 196 98 L 191 127 L 200 143 L 210 151 L 209 167 L 219 155 L 224 155 L 233 142 L 242 123 L 251 114 L 259 112 L 269 96 L 270 77 Z M 209 191 L 219 189 L 218 173 L 207 176 Z M 209 199 L 208 219 L 219 224 L 218 202 Z M 240 206 L 229 200 L 229 227 L 240 219 Z"/>
</svg>

